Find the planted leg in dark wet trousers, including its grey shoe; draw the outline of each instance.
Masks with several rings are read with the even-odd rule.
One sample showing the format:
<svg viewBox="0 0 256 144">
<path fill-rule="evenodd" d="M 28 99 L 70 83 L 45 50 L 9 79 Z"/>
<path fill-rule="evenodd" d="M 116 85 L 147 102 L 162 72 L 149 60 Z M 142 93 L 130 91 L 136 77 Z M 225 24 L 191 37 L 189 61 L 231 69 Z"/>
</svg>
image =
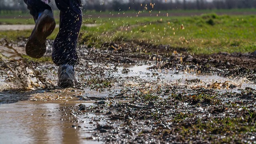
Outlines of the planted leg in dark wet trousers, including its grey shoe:
<svg viewBox="0 0 256 144">
<path fill-rule="evenodd" d="M 52 46 L 52 60 L 59 66 L 58 86 L 70 87 L 76 83 L 74 66 L 78 64 L 76 44 L 82 25 L 81 0 L 55 0 L 60 10 L 60 30 Z"/>
</svg>

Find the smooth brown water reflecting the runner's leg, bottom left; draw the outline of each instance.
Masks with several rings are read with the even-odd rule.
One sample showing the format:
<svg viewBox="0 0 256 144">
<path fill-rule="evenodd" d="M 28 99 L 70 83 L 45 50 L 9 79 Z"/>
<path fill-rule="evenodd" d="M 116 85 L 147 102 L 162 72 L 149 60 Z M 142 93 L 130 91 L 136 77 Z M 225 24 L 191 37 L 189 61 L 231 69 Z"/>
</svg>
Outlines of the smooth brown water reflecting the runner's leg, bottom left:
<svg viewBox="0 0 256 144">
<path fill-rule="evenodd" d="M 0 104 L 0 143 L 14 144 L 80 144 L 91 136 L 72 128 L 69 118 L 64 118 L 62 106 L 74 104 L 18 102 Z M 70 117 L 70 116 L 69 116 Z M 61 120 L 63 118 L 63 120 Z M 88 122 L 85 122 L 88 124 Z"/>
</svg>

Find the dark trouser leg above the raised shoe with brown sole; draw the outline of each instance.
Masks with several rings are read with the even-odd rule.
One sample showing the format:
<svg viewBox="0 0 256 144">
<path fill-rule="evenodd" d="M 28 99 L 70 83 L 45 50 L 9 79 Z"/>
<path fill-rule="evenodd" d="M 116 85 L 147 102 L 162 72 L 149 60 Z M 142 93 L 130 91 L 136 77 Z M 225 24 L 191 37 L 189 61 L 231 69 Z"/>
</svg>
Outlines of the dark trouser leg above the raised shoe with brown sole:
<svg viewBox="0 0 256 144">
<path fill-rule="evenodd" d="M 52 8 L 48 5 L 50 0 L 24 0 L 24 2 L 28 6 L 28 10 L 30 14 L 33 16 L 34 21 L 38 19 L 38 14 L 43 12 L 44 10 L 52 10 Z"/>
</svg>

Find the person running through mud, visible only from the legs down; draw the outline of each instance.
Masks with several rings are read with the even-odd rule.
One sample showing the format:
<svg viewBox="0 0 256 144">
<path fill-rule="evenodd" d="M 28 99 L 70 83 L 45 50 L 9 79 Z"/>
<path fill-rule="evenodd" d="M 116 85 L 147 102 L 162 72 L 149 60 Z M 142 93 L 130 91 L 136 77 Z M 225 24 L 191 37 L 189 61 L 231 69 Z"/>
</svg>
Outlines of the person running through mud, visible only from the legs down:
<svg viewBox="0 0 256 144">
<path fill-rule="evenodd" d="M 24 0 L 36 22 L 26 44 L 26 53 L 33 58 L 40 58 L 46 52 L 46 38 L 52 33 L 56 22 L 50 0 Z M 74 66 L 78 64 L 76 44 L 82 25 L 81 0 L 55 0 L 60 10 L 60 28 L 52 46 L 52 61 L 59 66 L 58 86 L 75 86 Z"/>
</svg>

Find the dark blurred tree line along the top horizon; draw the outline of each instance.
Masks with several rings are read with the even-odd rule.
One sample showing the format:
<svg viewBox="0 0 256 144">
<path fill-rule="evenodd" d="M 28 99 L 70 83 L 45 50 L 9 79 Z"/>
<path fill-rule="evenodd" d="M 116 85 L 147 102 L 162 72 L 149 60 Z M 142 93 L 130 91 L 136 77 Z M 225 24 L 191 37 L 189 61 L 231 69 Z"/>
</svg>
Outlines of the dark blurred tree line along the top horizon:
<svg viewBox="0 0 256 144">
<path fill-rule="evenodd" d="M 127 11 L 127 10 L 172 10 L 172 9 L 232 9 L 256 8 L 256 0 L 82 0 L 84 10 Z M 152 3 L 154 6 L 150 5 Z M 147 6 L 146 6 L 147 4 Z M 54 9 L 56 5 L 51 0 Z M 23 0 L 0 0 L 0 12 L 13 10 L 27 12 Z"/>
</svg>

